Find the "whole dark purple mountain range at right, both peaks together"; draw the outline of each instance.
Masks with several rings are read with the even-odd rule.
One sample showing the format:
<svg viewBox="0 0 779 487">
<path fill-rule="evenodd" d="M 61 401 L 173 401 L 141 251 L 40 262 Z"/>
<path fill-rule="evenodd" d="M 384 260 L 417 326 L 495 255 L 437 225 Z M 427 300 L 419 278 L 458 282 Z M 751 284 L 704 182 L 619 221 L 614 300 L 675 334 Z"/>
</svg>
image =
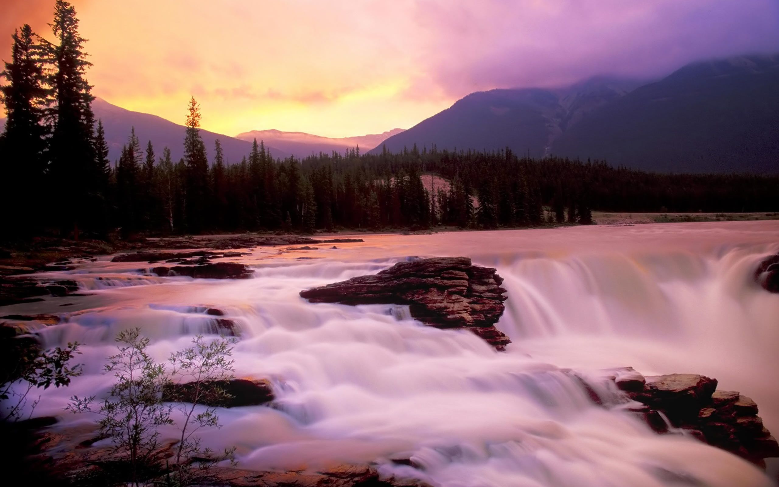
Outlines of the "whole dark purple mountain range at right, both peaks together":
<svg viewBox="0 0 779 487">
<path fill-rule="evenodd" d="M 467 95 L 386 139 L 396 152 L 510 147 L 651 171 L 779 172 L 779 55 L 686 65 L 653 83 L 589 79 L 561 90 Z M 377 153 L 381 146 L 371 152 Z"/>
</svg>

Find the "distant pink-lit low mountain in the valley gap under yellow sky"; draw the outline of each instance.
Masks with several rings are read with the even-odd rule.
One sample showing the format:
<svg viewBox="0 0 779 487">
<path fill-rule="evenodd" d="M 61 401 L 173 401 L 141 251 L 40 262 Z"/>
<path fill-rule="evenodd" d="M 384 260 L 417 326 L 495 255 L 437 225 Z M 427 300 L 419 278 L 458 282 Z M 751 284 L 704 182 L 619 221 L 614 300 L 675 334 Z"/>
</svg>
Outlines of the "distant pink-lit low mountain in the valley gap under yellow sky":
<svg viewBox="0 0 779 487">
<path fill-rule="evenodd" d="M 393 129 L 388 132 L 372 134 L 368 136 L 331 138 L 314 136 L 305 132 L 281 132 L 280 130 L 252 130 L 243 132 L 235 136 L 236 139 L 252 141 L 254 139 L 264 140 L 266 145 L 277 147 L 295 157 L 306 157 L 311 154 L 323 152 L 330 154 L 333 150 L 343 153 L 344 150 L 354 149 L 360 146 L 361 149 L 368 150 L 378 146 L 385 139 L 403 132 L 403 129 Z"/>
</svg>

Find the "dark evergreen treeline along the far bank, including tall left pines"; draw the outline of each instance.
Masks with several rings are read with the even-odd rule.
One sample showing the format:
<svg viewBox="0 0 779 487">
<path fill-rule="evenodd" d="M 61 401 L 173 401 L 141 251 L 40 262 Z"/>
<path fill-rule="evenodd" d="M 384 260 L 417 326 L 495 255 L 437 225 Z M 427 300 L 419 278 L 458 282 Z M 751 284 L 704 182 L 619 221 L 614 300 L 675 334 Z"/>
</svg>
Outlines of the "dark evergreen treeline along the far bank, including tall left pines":
<svg viewBox="0 0 779 487">
<path fill-rule="evenodd" d="M 0 136 L 4 228 L 35 235 L 55 229 L 125 236 L 208 231 L 333 228 L 461 228 L 591 223 L 591 210 L 777 211 L 779 178 L 665 175 L 605 162 L 511 150 L 448 151 L 417 146 L 400 154 L 319 154 L 274 160 L 255 143 L 239 164 L 225 164 L 220 143 L 199 135 L 194 98 L 184 157 L 128 134 L 115 164 L 91 110 L 90 64 L 68 2 L 55 5 L 58 44 L 23 26 L 13 36 L 8 112 Z M 439 175 L 427 186 L 423 176 Z M 431 178 L 428 178 L 428 181 Z"/>
</svg>

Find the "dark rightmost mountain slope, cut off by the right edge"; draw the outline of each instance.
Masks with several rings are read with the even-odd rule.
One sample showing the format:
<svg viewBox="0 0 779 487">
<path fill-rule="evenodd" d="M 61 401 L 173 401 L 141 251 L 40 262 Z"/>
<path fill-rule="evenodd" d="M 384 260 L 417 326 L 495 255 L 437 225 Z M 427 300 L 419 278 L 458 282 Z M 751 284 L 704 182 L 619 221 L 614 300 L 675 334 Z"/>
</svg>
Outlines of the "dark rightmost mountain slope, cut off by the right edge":
<svg viewBox="0 0 779 487">
<path fill-rule="evenodd" d="M 687 65 L 573 125 L 555 154 L 655 171 L 779 171 L 779 55 Z"/>
</svg>

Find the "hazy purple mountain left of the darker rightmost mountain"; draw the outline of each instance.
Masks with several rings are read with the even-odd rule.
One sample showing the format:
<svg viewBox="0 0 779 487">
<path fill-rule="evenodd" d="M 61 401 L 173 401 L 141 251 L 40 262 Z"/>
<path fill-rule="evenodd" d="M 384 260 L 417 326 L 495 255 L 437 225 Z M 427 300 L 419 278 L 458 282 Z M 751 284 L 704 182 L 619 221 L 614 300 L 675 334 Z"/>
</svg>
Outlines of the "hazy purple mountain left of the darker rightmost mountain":
<svg viewBox="0 0 779 487">
<path fill-rule="evenodd" d="M 384 141 L 392 152 L 435 144 L 439 149 L 493 150 L 542 157 L 569 125 L 633 90 L 634 80 L 598 77 L 559 90 L 527 88 L 472 93 L 452 107 Z M 378 153 L 381 146 L 371 152 Z"/>
</svg>

